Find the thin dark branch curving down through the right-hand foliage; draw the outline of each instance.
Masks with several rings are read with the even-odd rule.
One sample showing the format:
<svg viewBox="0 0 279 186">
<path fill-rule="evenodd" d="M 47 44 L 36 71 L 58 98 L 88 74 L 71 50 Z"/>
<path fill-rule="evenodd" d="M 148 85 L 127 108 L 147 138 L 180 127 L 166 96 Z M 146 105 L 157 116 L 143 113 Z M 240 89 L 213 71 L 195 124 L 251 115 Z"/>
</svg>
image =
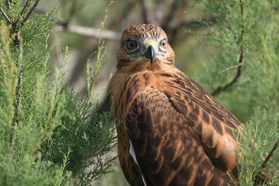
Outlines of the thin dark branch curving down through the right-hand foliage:
<svg viewBox="0 0 279 186">
<path fill-rule="evenodd" d="M 234 79 L 232 79 L 232 82 L 229 82 L 229 84 L 225 85 L 225 86 L 219 86 L 218 88 L 216 88 L 215 91 L 213 91 L 213 93 L 211 93 L 211 95 L 218 95 L 219 93 L 223 92 L 223 91 L 227 91 L 228 88 L 230 88 L 236 81 L 237 79 L 239 79 L 240 75 L 241 75 L 241 67 L 243 66 L 244 63 L 244 49 L 243 49 L 243 34 L 244 34 L 244 10 L 243 10 L 243 0 L 239 0 L 240 1 L 240 7 L 241 7 L 241 17 L 242 17 L 242 28 L 241 28 L 241 34 L 240 34 L 240 38 L 239 38 L 239 42 L 240 42 L 240 56 L 239 56 L 239 65 L 237 68 L 237 72 L 236 72 L 236 76 L 234 77 Z"/>
</svg>

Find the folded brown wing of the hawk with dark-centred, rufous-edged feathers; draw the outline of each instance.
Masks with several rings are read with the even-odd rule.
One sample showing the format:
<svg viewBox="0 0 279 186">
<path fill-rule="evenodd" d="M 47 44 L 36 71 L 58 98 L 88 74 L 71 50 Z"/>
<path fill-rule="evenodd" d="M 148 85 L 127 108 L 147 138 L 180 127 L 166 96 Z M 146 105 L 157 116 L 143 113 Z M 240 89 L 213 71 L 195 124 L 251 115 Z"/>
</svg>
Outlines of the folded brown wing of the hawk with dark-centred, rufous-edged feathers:
<svg viewBox="0 0 279 186">
<path fill-rule="evenodd" d="M 216 109 L 182 95 L 148 88 L 131 104 L 125 123 L 144 179 L 151 185 L 231 183 L 226 171 L 236 162 L 226 162 L 234 150 L 225 150 L 225 140 L 232 137 L 219 119 L 226 111 L 214 115 Z"/>
</svg>

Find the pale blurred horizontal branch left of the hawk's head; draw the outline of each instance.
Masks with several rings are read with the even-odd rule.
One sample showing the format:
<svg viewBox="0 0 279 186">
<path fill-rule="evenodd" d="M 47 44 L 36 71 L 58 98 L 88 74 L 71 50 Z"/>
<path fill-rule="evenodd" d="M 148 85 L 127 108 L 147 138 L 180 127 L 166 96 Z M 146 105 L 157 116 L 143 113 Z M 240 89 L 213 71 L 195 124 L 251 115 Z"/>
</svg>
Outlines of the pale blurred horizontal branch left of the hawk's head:
<svg viewBox="0 0 279 186">
<path fill-rule="evenodd" d="M 88 36 L 93 38 L 100 38 L 100 31 L 98 29 L 94 29 L 91 27 L 86 26 L 77 26 L 77 25 L 63 25 L 62 29 L 57 29 L 57 31 L 67 31 L 68 33 L 75 33 L 80 36 Z M 120 40 L 121 33 L 117 33 L 115 31 L 110 30 L 103 30 L 103 39 L 110 39 L 110 40 Z"/>
</svg>

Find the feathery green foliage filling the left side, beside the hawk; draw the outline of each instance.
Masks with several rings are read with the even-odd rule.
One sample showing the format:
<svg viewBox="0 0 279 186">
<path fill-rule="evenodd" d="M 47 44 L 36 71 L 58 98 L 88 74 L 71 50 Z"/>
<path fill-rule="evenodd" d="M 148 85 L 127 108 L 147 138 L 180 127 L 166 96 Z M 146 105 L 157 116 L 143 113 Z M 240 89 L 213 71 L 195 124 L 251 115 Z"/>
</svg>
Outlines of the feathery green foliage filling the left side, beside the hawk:
<svg viewBox="0 0 279 186">
<path fill-rule="evenodd" d="M 4 10 L 16 20 L 21 1 Z M 116 144 L 112 111 L 100 114 L 89 96 L 61 90 L 67 47 L 50 79 L 55 43 L 48 45 L 47 38 L 59 21 L 52 14 L 33 15 L 17 27 L 20 47 L 0 14 L 0 185 L 89 185 L 109 172 L 115 158 L 104 157 Z"/>
</svg>

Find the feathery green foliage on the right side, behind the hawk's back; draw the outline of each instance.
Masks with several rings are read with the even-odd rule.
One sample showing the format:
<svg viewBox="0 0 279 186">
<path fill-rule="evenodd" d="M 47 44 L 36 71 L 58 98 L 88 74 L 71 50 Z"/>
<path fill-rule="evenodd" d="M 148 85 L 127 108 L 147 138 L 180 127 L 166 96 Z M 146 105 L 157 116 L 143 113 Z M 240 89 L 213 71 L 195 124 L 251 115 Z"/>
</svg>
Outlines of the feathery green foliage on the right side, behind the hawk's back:
<svg viewBox="0 0 279 186">
<path fill-rule="evenodd" d="M 237 65 L 243 49 L 241 76 L 216 98 L 245 126 L 239 139 L 241 185 L 253 185 L 252 179 L 260 171 L 272 179 L 269 185 L 279 185 L 278 150 L 266 169 L 261 168 L 264 157 L 279 139 L 279 1 L 203 1 L 203 5 L 206 12 L 218 17 L 218 24 L 206 29 L 203 37 L 219 52 L 204 63 L 196 81 L 209 92 L 231 82 L 237 68 L 218 72 Z M 251 139 L 255 141 L 252 148 L 248 146 Z M 255 175 L 249 177 L 252 172 Z"/>
</svg>

